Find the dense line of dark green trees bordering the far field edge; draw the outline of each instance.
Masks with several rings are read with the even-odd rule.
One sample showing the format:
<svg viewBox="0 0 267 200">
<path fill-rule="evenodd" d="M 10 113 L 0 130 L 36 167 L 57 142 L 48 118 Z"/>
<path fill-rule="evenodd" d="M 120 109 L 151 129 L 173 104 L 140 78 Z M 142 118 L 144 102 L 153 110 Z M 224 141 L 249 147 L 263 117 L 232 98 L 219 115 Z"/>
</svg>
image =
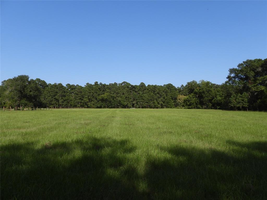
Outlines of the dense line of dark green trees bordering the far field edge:
<svg viewBox="0 0 267 200">
<path fill-rule="evenodd" d="M 221 85 L 201 80 L 175 87 L 128 82 L 85 86 L 46 83 L 19 75 L 1 82 L 1 107 L 188 108 L 267 110 L 267 58 L 229 69 Z"/>
</svg>

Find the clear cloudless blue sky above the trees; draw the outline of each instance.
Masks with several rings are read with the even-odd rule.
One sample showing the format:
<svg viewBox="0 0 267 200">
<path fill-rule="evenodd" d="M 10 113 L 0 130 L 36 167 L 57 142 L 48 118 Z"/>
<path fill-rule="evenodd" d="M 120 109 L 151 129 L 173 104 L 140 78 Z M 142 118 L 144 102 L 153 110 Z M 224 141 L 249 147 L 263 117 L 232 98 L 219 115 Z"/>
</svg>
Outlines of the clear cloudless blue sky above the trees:
<svg viewBox="0 0 267 200">
<path fill-rule="evenodd" d="M 1 81 L 221 84 L 267 57 L 267 1 L 1 1 Z"/>
</svg>

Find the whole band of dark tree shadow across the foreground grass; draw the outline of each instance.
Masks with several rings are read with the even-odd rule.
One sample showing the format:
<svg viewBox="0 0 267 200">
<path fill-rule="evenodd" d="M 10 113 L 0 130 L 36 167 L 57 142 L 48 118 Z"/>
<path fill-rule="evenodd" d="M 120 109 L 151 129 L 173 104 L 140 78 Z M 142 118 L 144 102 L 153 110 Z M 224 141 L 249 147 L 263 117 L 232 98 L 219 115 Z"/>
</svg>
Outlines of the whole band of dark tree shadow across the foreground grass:
<svg viewBox="0 0 267 200">
<path fill-rule="evenodd" d="M 227 144 L 162 147 L 143 172 L 127 140 L 5 145 L 1 199 L 266 199 L 267 142 Z"/>
</svg>

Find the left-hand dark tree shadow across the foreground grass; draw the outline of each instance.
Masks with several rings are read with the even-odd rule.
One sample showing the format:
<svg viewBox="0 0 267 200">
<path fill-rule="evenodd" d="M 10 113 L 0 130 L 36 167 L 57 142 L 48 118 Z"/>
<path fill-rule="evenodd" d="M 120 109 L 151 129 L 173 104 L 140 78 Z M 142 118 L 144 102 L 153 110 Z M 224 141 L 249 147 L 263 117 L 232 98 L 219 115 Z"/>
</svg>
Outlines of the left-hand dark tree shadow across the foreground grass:
<svg viewBox="0 0 267 200">
<path fill-rule="evenodd" d="M 95 137 L 1 146 L 1 199 L 138 199 L 133 151 L 127 140 Z"/>
</svg>

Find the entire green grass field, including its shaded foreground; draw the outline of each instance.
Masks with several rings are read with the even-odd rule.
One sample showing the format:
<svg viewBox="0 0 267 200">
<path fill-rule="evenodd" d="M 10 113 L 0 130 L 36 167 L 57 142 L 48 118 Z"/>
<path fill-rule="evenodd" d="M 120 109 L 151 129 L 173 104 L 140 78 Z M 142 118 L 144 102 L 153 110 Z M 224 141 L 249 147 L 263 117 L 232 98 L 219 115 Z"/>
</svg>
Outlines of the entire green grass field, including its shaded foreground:
<svg viewBox="0 0 267 200">
<path fill-rule="evenodd" d="M 267 199 L 267 113 L 1 111 L 1 199 Z"/>
</svg>

